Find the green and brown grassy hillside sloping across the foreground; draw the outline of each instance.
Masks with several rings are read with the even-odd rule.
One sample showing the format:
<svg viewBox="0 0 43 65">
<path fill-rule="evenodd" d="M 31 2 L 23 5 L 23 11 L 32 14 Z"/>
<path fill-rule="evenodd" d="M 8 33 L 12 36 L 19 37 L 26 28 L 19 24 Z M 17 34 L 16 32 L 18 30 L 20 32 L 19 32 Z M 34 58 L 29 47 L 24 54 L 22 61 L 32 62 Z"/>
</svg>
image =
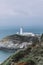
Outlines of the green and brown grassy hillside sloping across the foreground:
<svg viewBox="0 0 43 65">
<path fill-rule="evenodd" d="M 18 51 L 1 65 L 43 65 L 43 47 L 35 45 Z"/>
</svg>

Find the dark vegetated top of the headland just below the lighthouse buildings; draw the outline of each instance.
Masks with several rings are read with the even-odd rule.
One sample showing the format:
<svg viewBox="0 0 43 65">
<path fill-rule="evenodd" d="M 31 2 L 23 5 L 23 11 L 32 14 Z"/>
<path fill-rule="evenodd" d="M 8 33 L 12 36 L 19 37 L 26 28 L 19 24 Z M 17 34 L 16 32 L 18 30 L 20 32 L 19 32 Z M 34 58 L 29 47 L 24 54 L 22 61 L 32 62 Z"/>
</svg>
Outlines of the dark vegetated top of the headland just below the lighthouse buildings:
<svg viewBox="0 0 43 65">
<path fill-rule="evenodd" d="M 30 42 L 30 41 L 34 41 L 35 43 L 38 42 L 38 38 L 37 37 L 32 37 L 32 36 L 22 36 L 22 35 L 11 35 L 11 36 L 7 36 L 5 38 L 3 38 L 3 40 L 12 40 L 14 43 L 16 43 L 17 41 L 19 41 L 20 43 L 22 42 Z M 3 41 L 2 40 L 2 41 Z"/>
</svg>

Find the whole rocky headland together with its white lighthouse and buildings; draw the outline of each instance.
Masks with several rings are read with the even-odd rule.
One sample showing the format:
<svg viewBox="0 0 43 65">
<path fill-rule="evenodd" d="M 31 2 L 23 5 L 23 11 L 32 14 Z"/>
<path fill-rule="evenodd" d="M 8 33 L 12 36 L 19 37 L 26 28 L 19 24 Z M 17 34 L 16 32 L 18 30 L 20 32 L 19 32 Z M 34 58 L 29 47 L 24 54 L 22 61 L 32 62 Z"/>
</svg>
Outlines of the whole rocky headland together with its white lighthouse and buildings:
<svg viewBox="0 0 43 65">
<path fill-rule="evenodd" d="M 20 28 L 20 32 L 10 36 L 6 36 L 0 41 L 0 49 L 3 50 L 17 50 L 27 48 L 29 45 L 38 43 L 41 35 L 23 32 Z"/>
</svg>

